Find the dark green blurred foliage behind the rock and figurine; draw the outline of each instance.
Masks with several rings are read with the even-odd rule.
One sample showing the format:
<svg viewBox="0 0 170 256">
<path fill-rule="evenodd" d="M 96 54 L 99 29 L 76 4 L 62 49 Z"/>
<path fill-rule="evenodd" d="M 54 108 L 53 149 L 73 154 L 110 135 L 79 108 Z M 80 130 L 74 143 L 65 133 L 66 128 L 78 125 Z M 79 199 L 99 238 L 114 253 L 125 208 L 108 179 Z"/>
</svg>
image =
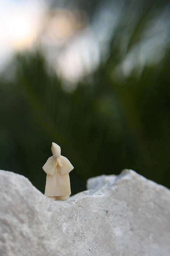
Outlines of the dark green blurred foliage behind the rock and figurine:
<svg viewBox="0 0 170 256">
<path fill-rule="evenodd" d="M 107 60 L 90 82 L 85 77 L 70 93 L 47 72 L 42 52 L 16 56 L 15 78 L 0 79 L 1 169 L 23 174 L 44 192 L 42 166 L 52 155 L 54 141 L 74 165 L 72 194 L 85 189 L 89 177 L 125 168 L 170 187 L 170 52 L 159 64 L 145 66 L 140 76 L 113 75 L 139 38 L 142 22 L 122 54 L 124 28 L 119 27 Z"/>
</svg>

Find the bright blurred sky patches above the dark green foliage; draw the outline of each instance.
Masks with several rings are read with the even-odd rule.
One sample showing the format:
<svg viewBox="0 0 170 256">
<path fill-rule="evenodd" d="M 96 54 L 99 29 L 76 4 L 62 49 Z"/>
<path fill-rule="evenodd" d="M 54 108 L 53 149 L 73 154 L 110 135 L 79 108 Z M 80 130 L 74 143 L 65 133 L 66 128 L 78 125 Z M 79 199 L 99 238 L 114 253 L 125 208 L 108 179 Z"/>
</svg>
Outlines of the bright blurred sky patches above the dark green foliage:
<svg viewBox="0 0 170 256">
<path fill-rule="evenodd" d="M 84 8 L 90 2 L 80 2 L 1 0 L 0 70 L 16 52 L 39 48 L 49 68 L 65 81 L 64 89 L 71 91 L 79 79 L 107 58 L 118 24 L 126 26 L 121 40 L 122 53 L 126 53 L 146 2 L 99 1 L 92 15 Z M 146 28 L 142 28 L 139 40 L 113 70 L 118 79 L 129 76 L 134 68 L 140 75 L 145 65 L 159 62 L 164 56 L 170 39 L 170 4 L 165 6 L 159 12 L 153 6 L 146 15 Z"/>
</svg>

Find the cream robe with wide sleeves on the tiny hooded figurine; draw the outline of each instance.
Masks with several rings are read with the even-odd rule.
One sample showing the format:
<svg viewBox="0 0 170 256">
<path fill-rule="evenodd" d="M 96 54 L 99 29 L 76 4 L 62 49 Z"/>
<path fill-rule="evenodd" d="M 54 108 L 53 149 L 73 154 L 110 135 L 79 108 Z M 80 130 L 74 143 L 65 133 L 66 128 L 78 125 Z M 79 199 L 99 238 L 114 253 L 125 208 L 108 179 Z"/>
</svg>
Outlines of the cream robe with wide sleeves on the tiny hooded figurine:
<svg viewBox="0 0 170 256">
<path fill-rule="evenodd" d="M 59 156 L 62 166 L 55 166 L 55 157 L 51 156 L 42 167 L 47 173 L 45 196 L 67 196 L 71 194 L 69 172 L 73 165 L 65 156 Z"/>
</svg>

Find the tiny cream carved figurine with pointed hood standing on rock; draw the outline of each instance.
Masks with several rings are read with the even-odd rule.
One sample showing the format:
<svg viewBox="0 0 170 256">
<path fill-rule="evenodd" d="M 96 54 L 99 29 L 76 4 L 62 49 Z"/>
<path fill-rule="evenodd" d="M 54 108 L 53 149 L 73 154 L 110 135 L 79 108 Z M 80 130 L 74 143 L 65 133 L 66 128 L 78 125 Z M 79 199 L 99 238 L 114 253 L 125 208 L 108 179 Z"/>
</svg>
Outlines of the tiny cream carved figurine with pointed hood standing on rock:
<svg viewBox="0 0 170 256">
<path fill-rule="evenodd" d="M 69 172 L 73 170 L 70 161 L 61 156 L 61 148 L 52 142 L 49 157 L 42 169 L 47 173 L 45 196 L 52 200 L 66 200 L 71 194 Z"/>
</svg>

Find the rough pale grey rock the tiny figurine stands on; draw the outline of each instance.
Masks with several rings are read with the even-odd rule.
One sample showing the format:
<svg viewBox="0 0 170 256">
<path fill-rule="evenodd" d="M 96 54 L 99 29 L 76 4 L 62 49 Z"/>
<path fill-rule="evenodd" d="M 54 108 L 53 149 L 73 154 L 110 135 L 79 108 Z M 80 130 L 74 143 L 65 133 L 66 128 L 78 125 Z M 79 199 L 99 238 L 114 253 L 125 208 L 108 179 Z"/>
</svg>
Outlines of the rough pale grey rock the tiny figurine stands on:
<svg viewBox="0 0 170 256">
<path fill-rule="evenodd" d="M 134 171 L 99 176 L 51 201 L 0 171 L 0 255 L 169 256 L 170 191 Z"/>
</svg>

